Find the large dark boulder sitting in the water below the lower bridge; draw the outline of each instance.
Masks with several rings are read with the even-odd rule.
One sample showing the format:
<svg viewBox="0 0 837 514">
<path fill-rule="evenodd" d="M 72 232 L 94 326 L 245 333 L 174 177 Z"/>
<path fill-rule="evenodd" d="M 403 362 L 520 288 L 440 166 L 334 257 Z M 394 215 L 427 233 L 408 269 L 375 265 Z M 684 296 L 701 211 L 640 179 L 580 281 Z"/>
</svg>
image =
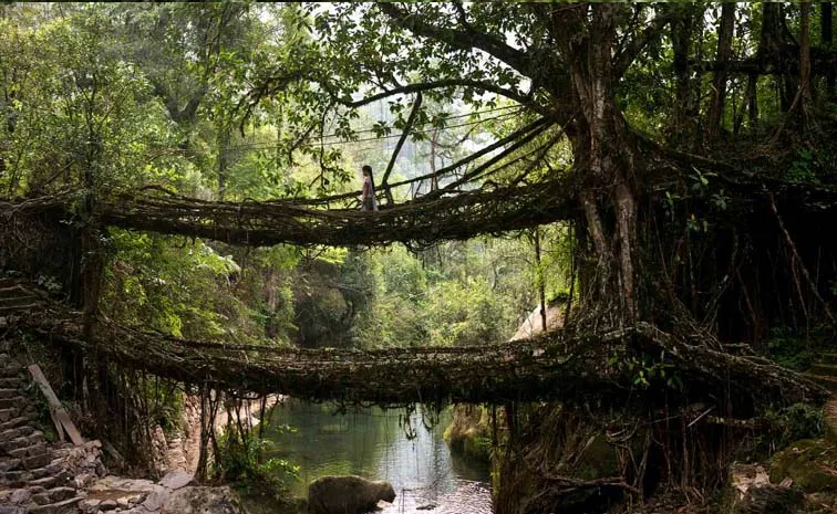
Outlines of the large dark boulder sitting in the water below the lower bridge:
<svg viewBox="0 0 837 514">
<path fill-rule="evenodd" d="M 323 476 L 308 486 L 310 514 L 362 514 L 378 510 L 378 502 L 392 503 L 395 491 L 389 482 L 360 476 Z"/>
</svg>

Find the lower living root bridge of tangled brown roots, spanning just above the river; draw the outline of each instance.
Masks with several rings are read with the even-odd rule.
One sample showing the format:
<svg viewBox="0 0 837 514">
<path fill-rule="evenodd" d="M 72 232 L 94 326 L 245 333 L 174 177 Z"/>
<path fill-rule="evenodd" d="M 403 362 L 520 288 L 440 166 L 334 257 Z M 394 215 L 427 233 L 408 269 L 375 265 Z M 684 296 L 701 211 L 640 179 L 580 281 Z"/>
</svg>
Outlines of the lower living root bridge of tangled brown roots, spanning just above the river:
<svg viewBox="0 0 837 514">
<path fill-rule="evenodd" d="M 53 319 L 55 317 L 52 317 Z M 49 319 L 49 318 L 44 318 Z M 388 349 L 297 349 L 223 345 L 137 332 L 102 322 L 83 340 L 72 322 L 41 322 L 29 328 L 62 345 L 183 382 L 224 389 L 283 394 L 312 400 L 379 405 L 566 400 L 595 395 L 619 401 L 633 376 L 613 355 L 661 355 L 685 387 L 705 391 L 735 388 L 775 403 L 817 401 L 827 391 L 758 357 L 733 356 L 689 344 L 650 325 L 478 347 Z M 724 378 L 720 378 L 724 377 Z M 637 392 L 634 390 L 634 392 Z"/>
</svg>

